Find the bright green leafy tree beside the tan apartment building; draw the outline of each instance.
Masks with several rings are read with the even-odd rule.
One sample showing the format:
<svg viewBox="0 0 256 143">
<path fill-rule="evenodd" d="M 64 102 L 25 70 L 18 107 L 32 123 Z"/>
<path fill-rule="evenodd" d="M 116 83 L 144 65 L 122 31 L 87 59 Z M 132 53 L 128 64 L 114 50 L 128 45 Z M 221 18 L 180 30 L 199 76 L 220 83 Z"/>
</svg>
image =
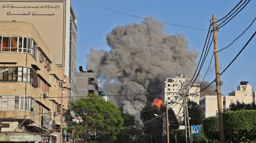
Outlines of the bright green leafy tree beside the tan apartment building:
<svg viewBox="0 0 256 143">
<path fill-rule="evenodd" d="M 108 137 L 110 141 L 116 140 L 116 135 L 124 123 L 120 110 L 100 96 L 88 96 L 89 98 L 71 102 L 71 111 L 78 115 L 79 123 L 70 127 L 69 131 L 74 129 L 76 137 L 81 139 L 80 142 L 96 140 L 95 131 L 96 134 Z"/>
</svg>

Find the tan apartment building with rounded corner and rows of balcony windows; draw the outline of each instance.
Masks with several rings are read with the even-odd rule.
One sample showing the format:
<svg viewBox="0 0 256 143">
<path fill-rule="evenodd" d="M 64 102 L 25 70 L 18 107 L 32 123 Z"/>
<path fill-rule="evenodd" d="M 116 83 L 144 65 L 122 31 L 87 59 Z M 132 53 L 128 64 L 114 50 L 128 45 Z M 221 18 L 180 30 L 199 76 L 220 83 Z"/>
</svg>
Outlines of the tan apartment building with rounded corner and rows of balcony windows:
<svg viewBox="0 0 256 143">
<path fill-rule="evenodd" d="M 69 118 L 69 77 L 32 23 L 0 21 L 0 31 L 0 142 L 58 140 L 61 120 L 68 125 L 60 114 Z"/>
</svg>

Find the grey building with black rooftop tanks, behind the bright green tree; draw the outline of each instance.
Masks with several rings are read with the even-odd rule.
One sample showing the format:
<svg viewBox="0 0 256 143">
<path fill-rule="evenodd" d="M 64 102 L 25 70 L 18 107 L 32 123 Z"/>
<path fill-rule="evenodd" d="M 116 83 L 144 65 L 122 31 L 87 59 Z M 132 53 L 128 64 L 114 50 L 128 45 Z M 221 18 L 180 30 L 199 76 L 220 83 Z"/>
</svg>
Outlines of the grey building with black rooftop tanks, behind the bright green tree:
<svg viewBox="0 0 256 143">
<path fill-rule="evenodd" d="M 89 93 L 102 96 L 105 101 L 109 101 L 109 97 L 100 87 L 98 77 L 92 70 L 83 71 L 82 66 L 79 67 L 79 73 L 76 77 L 78 94 L 76 99 L 86 97 Z"/>
</svg>

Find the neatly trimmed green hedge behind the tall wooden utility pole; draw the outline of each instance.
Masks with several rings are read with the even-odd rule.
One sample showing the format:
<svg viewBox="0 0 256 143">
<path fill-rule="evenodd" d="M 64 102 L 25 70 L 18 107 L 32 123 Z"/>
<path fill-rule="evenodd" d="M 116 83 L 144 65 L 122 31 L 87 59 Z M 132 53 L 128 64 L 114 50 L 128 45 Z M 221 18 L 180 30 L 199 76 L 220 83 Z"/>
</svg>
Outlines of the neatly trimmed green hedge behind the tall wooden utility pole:
<svg viewBox="0 0 256 143">
<path fill-rule="evenodd" d="M 226 142 L 254 142 L 256 140 L 256 110 L 226 111 L 223 113 Z M 219 139 L 219 119 L 212 116 L 203 121 L 208 139 Z"/>
</svg>

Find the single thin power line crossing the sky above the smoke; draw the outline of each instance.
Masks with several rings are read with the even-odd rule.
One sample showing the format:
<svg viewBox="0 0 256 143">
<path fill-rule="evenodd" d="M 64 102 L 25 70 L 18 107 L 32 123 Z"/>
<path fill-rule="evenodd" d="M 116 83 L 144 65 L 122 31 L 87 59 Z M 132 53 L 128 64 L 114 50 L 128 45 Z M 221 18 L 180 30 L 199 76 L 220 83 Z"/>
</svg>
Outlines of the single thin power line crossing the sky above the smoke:
<svg viewBox="0 0 256 143">
<path fill-rule="evenodd" d="M 97 5 L 89 4 L 89 3 L 82 2 L 82 1 L 79 1 L 79 0 L 74 0 L 74 1 L 77 1 L 77 2 L 80 2 L 80 3 L 83 3 L 83 4 L 87 4 L 87 5 L 90 5 L 90 6 L 93 6 L 93 7 L 101 8 L 101 9 L 104 9 L 104 10 L 112 11 L 112 12 L 117 12 L 117 13 L 129 15 L 129 16 L 133 16 L 133 17 L 137 17 L 137 18 L 141 18 L 141 19 L 145 19 L 145 20 L 152 20 L 152 19 L 143 18 L 143 17 L 140 17 L 140 16 L 136 16 L 136 15 L 132 15 L 132 14 L 128 14 L 128 13 L 119 12 L 119 11 L 111 10 L 111 9 L 108 9 L 108 8 L 100 7 L 100 6 L 97 6 Z M 208 31 L 208 30 L 205 30 L 205 29 L 194 28 L 194 27 L 188 27 L 188 26 L 182 26 L 182 25 L 173 24 L 173 23 L 168 23 L 168 22 L 163 22 L 163 21 L 158 21 L 158 20 L 152 20 L 152 21 L 156 21 L 156 22 L 160 22 L 160 23 L 164 23 L 164 24 L 169 24 L 169 25 L 174 25 L 174 26 L 185 27 L 185 28 L 191 28 L 191 29 L 195 29 L 195 30 Z"/>
</svg>

